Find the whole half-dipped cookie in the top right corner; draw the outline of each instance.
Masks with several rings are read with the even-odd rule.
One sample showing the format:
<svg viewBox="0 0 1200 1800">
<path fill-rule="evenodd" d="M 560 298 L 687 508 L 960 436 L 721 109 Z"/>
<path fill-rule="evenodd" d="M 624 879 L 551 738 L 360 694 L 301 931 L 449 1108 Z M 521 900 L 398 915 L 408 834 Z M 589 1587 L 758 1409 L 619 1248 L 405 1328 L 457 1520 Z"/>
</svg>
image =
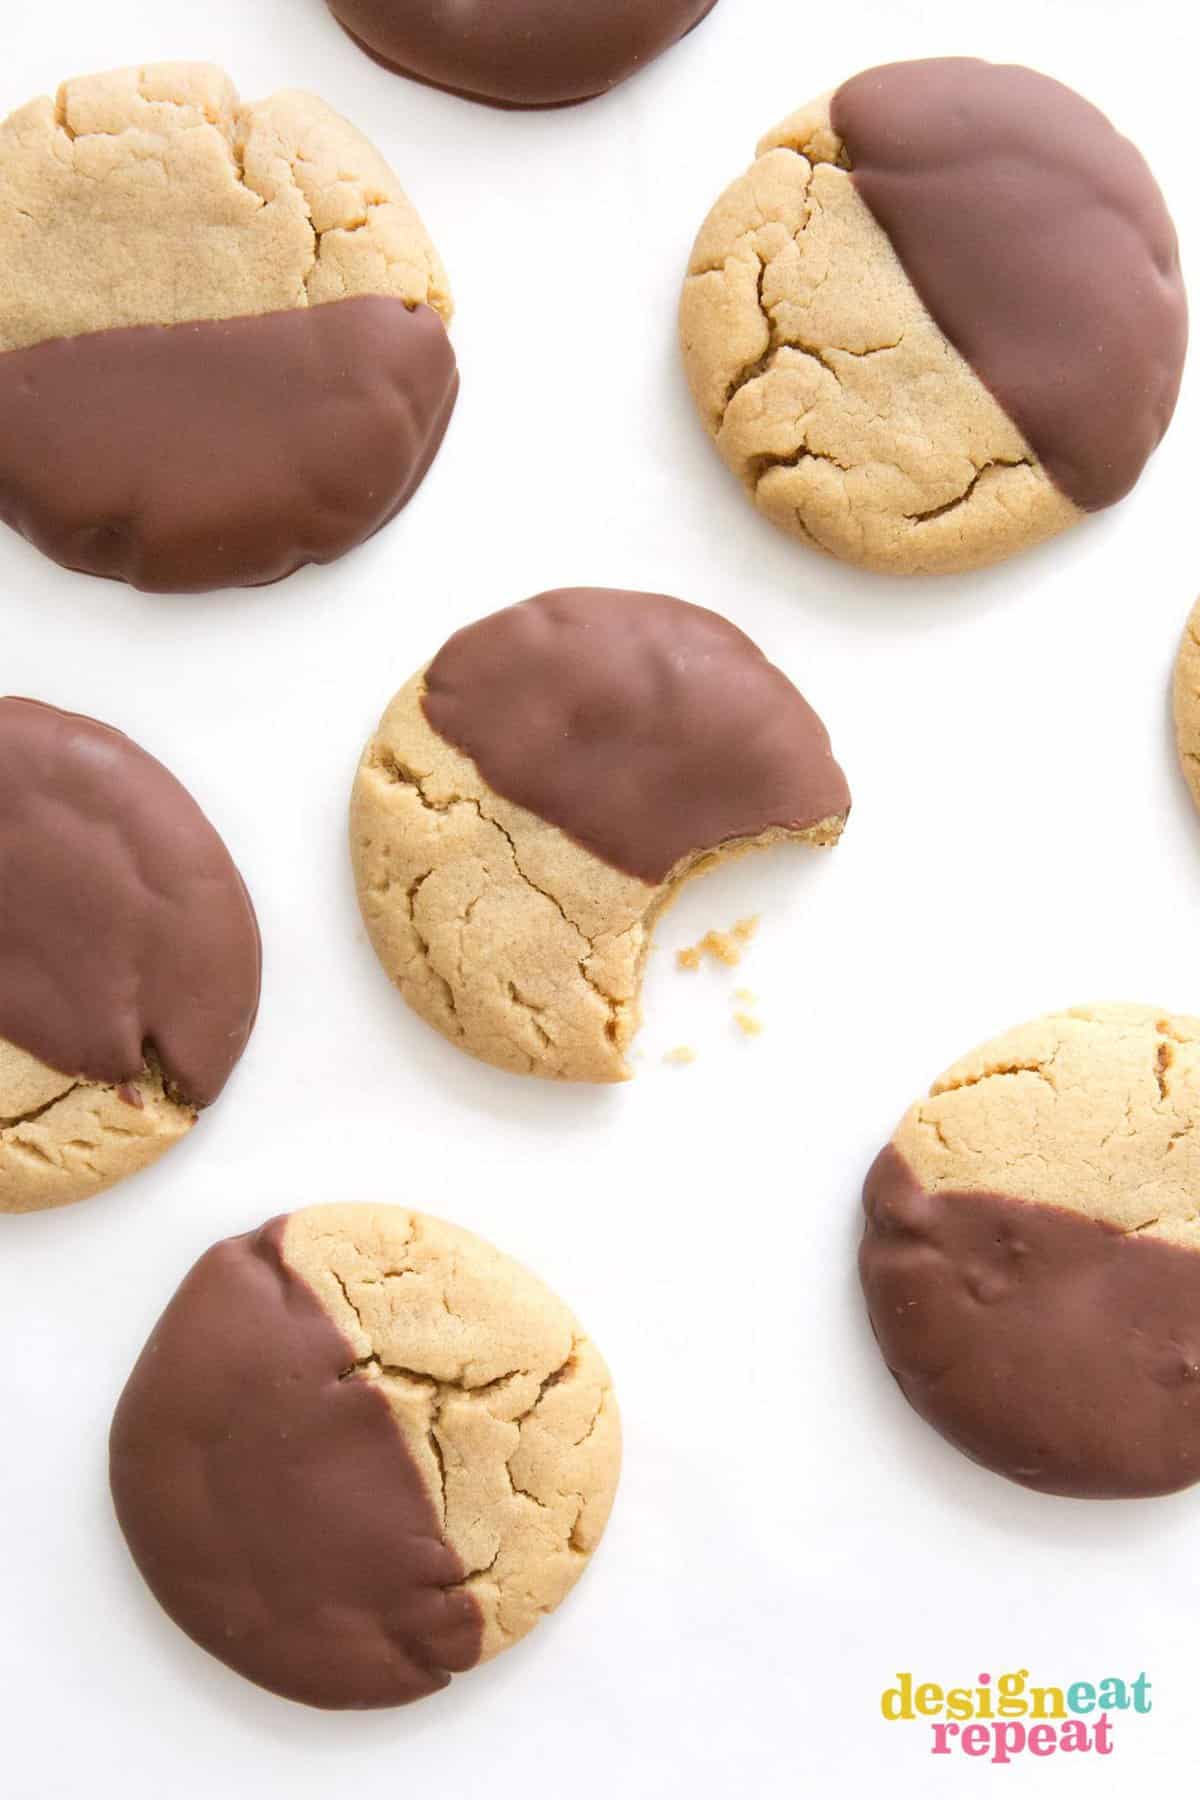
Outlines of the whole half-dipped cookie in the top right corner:
<svg viewBox="0 0 1200 1800">
<path fill-rule="evenodd" d="M 680 328 L 754 504 L 910 574 L 1119 500 L 1171 419 L 1187 306 L 1162 196 L 1103 113 L 1029 68 L 939 58 L 867 70 L 763 139 L 696 238 Z"/>
</svg>

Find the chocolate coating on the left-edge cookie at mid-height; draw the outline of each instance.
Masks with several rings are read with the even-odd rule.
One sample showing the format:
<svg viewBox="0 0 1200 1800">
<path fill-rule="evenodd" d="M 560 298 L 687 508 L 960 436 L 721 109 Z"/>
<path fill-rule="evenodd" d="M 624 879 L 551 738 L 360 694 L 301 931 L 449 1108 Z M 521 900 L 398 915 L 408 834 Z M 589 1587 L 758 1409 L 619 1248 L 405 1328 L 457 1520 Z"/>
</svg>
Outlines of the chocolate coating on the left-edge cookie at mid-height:
<svg viewBox="0 0 1200 1800">
<path fill-rule="evenodd" d="M 216 1100 L 259 1004 L 259 931 L 187 788 L 121 731 L 0 700 L 0 1039 L 121 1085 L 148 1048 Z"/>
</svg>

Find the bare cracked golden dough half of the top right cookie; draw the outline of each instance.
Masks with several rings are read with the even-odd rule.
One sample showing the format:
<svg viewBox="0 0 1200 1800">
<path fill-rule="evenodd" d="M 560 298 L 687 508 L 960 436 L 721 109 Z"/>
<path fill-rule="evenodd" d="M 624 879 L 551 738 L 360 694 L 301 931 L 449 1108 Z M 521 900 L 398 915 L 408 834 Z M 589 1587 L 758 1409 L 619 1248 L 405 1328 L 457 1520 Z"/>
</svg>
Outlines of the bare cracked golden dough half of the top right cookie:
<svg viewBox="0 0 1200 1800">
<path fill-rule="evenodd" d="M 968 569 L 1081 517 L 930 319 L 828 101 L 768 133 L 718 200 L 680 333 L 725 463 L 768 518 L 835 556 Z"/>
</svg>

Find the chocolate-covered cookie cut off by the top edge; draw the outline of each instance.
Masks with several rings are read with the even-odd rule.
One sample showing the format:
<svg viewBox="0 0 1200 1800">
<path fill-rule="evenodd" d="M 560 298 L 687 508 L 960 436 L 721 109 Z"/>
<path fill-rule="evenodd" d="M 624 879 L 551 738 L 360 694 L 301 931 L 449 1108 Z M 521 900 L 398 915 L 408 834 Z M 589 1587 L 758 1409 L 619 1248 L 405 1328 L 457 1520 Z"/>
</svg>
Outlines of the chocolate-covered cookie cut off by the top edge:
<svg viewBox="0 0 1200 1800">
<path fill-rule="evenodd" d="M 716 0 L 329 0 L 378 63 L 491 106 L 570 106 L 637 74 Z"/>
</svg>

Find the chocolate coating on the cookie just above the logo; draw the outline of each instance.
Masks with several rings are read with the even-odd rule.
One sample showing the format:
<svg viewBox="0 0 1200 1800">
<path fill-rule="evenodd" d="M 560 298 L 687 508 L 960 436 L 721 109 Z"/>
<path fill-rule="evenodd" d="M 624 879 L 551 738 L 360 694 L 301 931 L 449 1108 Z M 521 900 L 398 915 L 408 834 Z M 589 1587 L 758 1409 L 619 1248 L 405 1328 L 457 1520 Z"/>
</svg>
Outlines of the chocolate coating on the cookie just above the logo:
<svg viewBox="0 0 1200 1800">
<path fill-rule="evenodd" d="M 928 1193 L 889 1145 L 862 1285 L 909 1402 L 1043 1494 L 1200 1480 L 1200 1253 L 1000 1193 Z"/>
</svg>

